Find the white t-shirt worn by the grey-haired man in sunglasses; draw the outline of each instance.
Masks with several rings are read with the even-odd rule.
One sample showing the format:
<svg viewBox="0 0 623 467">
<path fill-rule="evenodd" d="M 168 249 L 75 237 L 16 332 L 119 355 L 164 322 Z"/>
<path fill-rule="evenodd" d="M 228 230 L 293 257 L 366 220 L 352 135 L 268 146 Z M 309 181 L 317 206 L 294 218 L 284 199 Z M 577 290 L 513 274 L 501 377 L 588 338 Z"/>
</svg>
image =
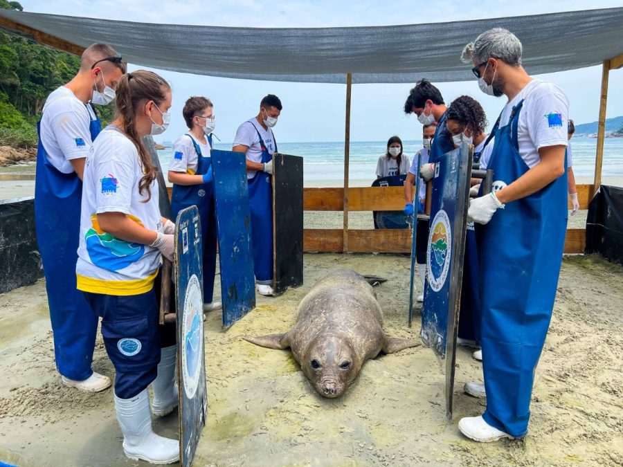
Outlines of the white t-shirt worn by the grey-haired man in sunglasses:
<svg viewBox="0 0 623 467">
<path fill-rule="evenodd" d="M 541 161 L 541 147 L 567 145 L 569 101 L 555 84 L 532 80 L 506 104 L 500 127 L 508 125 L 513 106 L 522 99 L 525 101 L 519 113 L 517 128 L 519 155 L 532 168 Z"/>
</svg>

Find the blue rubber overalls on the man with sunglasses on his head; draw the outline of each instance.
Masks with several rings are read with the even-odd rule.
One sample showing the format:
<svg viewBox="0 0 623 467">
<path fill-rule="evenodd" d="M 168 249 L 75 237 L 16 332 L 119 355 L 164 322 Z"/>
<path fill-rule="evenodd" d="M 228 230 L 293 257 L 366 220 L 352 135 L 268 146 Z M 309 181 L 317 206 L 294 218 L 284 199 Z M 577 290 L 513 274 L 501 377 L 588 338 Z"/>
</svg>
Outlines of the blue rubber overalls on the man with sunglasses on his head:
<svg viewBox="0 0 623 467">
<path fill-rule="evenodd" d="M 102 130 L 97 116 L 91 119 L 89 130 L 93 141 Z M 82 292 L 75 288 L 82 180 L 75 172 L 60 172 L 48 161 L 41 141 L 40 119 L 37 136 L 35 228 L 46 277 L 56 368 L 66 378 L 83 381 L 93 374 L 91 362 L 98 318 Z"/>
</svg>

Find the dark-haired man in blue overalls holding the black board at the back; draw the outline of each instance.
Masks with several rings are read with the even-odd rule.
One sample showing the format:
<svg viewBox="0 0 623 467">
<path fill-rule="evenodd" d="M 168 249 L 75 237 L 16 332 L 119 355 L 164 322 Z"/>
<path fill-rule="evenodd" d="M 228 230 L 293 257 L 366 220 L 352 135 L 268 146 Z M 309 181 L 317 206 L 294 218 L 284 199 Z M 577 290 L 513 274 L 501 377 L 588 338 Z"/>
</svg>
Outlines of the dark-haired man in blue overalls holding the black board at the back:
<svg viewBox="0 0 623 467">
<path fill-rule="evenodd" d="M 281 101 L 269 94 L 260 102 L 260 112 L 236 131 L 233 151 L 246 154 L 249 182 L 253 269 L 258 292 L 273 294 L 273 153 L 277 142 L 272 128 L 281 114 Z"/>
</svg>

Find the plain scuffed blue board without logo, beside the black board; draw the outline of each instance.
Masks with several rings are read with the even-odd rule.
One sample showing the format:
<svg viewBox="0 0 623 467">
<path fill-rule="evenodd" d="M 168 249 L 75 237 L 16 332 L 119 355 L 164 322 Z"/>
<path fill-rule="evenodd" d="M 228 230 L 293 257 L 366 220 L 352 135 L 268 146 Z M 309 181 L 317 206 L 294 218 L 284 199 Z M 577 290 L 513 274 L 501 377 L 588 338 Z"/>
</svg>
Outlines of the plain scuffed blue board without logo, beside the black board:
<svg viewBox="0 0 623 467">
<path fill-rule="evenodd" d="M 255 308 L 251 214 L 246 159 L 242 152 L 211 152 L 219 230 L 223 327 Z"/>
</svg>

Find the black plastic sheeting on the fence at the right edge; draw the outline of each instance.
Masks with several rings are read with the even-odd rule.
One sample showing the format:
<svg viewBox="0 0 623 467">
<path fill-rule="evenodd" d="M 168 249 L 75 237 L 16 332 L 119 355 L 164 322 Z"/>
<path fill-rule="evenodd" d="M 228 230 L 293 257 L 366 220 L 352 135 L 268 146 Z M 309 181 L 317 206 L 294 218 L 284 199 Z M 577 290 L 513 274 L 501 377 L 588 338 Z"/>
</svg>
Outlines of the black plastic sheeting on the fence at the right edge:
<svg viewBox="0 0 623 467">
<path fill-rule="evenodd" d="M 590 201 L 586 253 L 623 264 L 623 188 L 602 185 Z"/>
</svg>

